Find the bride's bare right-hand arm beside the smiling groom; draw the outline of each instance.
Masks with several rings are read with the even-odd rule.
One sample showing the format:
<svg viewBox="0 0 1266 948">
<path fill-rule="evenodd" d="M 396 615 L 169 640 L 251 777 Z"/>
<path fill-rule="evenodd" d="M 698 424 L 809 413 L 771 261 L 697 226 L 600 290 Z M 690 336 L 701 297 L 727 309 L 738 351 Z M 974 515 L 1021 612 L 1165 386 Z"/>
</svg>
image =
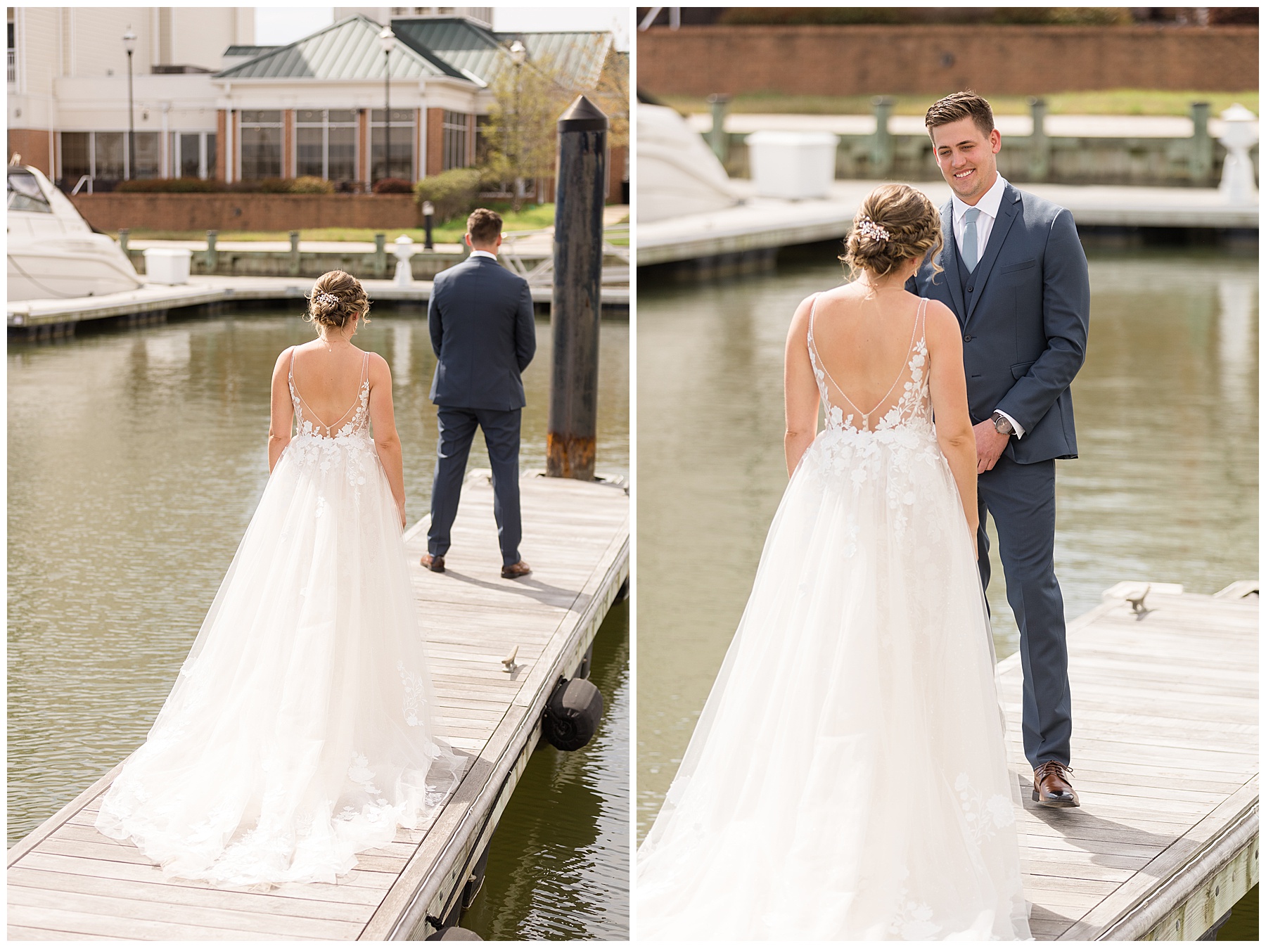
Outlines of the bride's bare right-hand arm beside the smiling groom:
<svg viewBox="0 0 1266 948">
<path fill-rule="evenodd" d="M 958 319 L 936 300 L 928 302 L 927 334 L 928 385 L 936 413 L 937 442 L 950 462 L 962 513 L 976 543 L 980 509 L 976 506 L 976 435 L 967 410 L 967 378 L 962 368 L 962 338 Z"/>
</svg>

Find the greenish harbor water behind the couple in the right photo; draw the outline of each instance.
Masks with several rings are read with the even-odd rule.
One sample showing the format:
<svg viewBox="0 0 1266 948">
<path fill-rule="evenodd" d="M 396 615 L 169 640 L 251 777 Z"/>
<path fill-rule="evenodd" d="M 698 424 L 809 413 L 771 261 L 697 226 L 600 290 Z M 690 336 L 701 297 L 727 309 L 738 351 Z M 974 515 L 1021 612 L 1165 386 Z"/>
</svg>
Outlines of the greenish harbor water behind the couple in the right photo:
<svg viewBox="0 0 1266 948">
<path fill-rule="evenodd" d="M 734 633 L 786 485 L 787 324 L 800 300 L 843 278 L 836 251 L 817 249 L 763 276 L 639 278 L 639 839 Z M 1098 251 L 1090 282 L 1090 343 L 1072 389 L 1080 458 L 1057 466 L 1067 615 L 1122 580 L 1215 592 L 1256 578 L 1256 259 Z M 1001 658 L 1019 634 L 994 539 L 989 600 Z"/>
</svg>

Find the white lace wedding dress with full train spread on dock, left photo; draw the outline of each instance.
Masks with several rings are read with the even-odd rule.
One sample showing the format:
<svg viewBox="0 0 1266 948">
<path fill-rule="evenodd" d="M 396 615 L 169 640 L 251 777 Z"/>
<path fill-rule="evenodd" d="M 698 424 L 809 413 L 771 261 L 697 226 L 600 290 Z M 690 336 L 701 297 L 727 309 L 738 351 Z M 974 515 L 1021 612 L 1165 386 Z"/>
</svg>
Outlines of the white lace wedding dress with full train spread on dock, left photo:
<svg viewBox="0 0 1266 948">
<path fill-rule="evenodd" d="M 334 882 L 465 767 L 436 739 L 400 518 L 357 402 L 298 433 L 96 828 L 168 878 Z"/>
</svg>

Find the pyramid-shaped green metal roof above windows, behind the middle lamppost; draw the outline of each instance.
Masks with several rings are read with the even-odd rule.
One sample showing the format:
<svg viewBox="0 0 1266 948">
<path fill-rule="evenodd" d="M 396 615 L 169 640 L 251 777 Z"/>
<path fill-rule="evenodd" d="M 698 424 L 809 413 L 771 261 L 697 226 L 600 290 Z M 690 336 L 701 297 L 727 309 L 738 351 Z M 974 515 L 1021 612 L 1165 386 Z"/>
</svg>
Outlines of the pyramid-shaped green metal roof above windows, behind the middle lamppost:
<svg viewBox="0 0 1266 948">
<path fill-rule="evenodd" d="M 382 78 L 382 27 L 353 14 L 309 37 L 216 72 L 218 78 Z M 391 53 L 391 78 L 458 76 L 434 57 L 419 53 L 408 43 L 398 43 Z"/>
</svg>

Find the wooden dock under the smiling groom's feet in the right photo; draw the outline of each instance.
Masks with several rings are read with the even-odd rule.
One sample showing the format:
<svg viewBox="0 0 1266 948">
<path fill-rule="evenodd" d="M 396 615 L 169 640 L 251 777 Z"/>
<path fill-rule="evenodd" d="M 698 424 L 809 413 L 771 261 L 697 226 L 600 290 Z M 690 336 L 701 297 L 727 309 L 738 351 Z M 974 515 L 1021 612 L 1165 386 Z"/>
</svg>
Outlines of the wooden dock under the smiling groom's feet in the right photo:
<svg viewBox="0 0 1266 948">
<path fill-rule="evenodd" d="M 1080 809 L 1031 800 L 1019 654 L 999 663 L 1038 940 L 1195 940 L 1257 885 L 1257 583 L 1119 583 L 1069 624 Z"/>
</svg>

